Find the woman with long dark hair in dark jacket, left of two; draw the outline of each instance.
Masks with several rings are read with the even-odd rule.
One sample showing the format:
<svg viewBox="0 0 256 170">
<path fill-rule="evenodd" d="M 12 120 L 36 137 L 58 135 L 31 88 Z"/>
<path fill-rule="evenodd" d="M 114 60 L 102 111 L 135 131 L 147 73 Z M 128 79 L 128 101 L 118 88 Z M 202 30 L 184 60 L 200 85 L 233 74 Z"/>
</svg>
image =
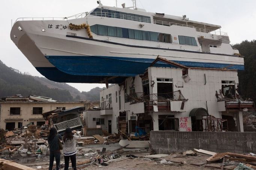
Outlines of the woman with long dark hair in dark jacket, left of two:
<svg viewBox="0 0 256 170">
<path fill-rule="evenodd" d="M 60 148 L 59 148 L 59 135 L 56 128 L 52 127 L 50 129 L 50 134 L 48 136 L 48 144 L 50 146 L 50 165 L 49 170 L 53 169 L 54 157 L 56 160 L 56 170 L 60 169 Z"/>
</svg>

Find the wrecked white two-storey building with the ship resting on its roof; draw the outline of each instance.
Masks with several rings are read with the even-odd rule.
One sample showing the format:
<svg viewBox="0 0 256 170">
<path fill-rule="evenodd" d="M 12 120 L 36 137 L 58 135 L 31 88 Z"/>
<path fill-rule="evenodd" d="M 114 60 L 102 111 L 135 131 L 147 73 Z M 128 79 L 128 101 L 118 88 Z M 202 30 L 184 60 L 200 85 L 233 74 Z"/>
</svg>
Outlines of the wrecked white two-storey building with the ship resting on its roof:
<svg viewBox="0 0 256 170">
<path fill-rule="evenodd" d="M 254 109 L 238 94 L 237 70 L 186 67 L 160 57 L 143 75 L 103 89 L 100 99 L 100 107 L 84 112 L 86 127 L 131 135 L 138 128 L 243 132 L 242 112 Z"/>
</svg>

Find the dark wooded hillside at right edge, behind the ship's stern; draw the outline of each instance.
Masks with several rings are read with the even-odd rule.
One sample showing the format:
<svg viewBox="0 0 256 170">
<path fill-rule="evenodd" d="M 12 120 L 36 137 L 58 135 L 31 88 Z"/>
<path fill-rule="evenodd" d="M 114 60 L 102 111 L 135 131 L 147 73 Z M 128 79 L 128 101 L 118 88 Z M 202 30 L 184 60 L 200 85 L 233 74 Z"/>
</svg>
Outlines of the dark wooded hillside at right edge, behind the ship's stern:
<svg viewBox="0 0 256 170">
<path fill-rule="evenodd" d="M 238 71 L 240 95 L 256 102 L 256 40 L 233 45 L 244 56 L 244 71 Z"/>
</svg>

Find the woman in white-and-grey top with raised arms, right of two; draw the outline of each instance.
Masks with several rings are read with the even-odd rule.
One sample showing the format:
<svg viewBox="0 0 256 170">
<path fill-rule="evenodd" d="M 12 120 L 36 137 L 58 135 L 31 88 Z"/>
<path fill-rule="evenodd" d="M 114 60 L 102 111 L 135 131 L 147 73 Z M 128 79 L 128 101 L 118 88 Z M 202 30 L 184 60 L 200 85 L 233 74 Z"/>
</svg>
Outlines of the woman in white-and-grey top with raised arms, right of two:
<svg viewBox="0 0 256 170">
<path fill-rule="evenodd" d="M 76 167 L 77 150 L 76 150 L 75 140 L 80 139 L 81 135 L 77 133 L 77 131 L 75 130 L 73 132 L 75 133 L 74 136 L 72 135 L 71 128 L 66 128 L 62 138 L 63 154 L 64 154 L 64 160 L 65 160 L 64 170 L 68 170 L 69 158 L 71 160 L 73 170 L 77 170 L 77 167 Z"/>
</svg>

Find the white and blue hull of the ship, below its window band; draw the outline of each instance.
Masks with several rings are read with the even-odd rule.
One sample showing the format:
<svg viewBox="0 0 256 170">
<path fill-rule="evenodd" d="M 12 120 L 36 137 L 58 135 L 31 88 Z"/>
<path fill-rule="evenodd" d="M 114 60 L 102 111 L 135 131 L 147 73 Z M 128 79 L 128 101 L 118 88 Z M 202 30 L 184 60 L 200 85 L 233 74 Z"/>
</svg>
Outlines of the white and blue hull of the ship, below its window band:
<svg viewBox="0 0 256 170">
<path fill-rule="evenodd" d="M 115 26 L 134 22 L 119 20 Z M 111 25 L 110 21 L 113 18 L 92 17 L 69 22 Z M 161 26 L 150 25 L 153 30 Z M 67 21 L 18 21 L 12 28 L 11 39 L 42 75 L 58 82 L 99 82 L 116 76 L 120 78 L 110 83 L 120 83 L 125 77 L 145 72 L 158 55 L 187 67 L 244 69 L 242 57 L 205 53 L 194 46 L 184 50 L 179 45 L 96 34 L 89 39 L 85 30 L 70 30 Z M 165 63 L 155 66 L 172 67 Z"/>
</svg>

